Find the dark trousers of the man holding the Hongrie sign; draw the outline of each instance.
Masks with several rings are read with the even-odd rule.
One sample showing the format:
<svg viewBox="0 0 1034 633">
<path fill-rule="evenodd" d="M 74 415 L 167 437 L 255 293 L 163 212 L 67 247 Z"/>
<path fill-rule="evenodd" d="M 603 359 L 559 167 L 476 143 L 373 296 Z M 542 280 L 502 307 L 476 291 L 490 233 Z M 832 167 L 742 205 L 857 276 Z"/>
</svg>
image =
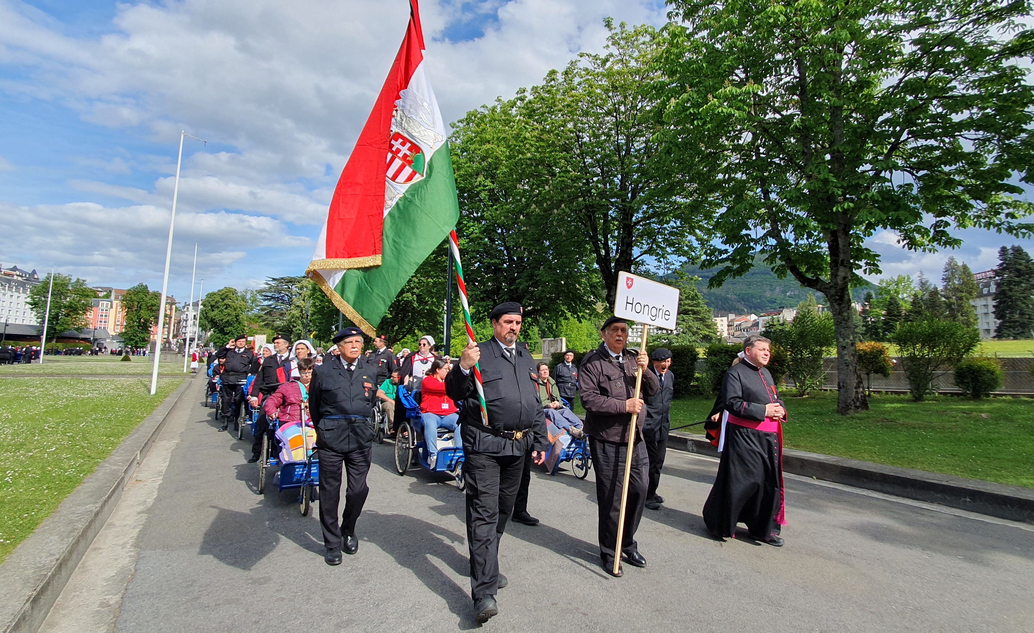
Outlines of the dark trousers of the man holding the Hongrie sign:
<svg viewBox="0 0 1034 633">
<path fill-rule="evenodd" d="M 625 483 L 625 459 L 628 444 L 588 439 L 596 470 L 596 501 L 600 512 L 600 557 L 605 565 L 614 562 L 614 545 L 617 542 L 617 519 L 621 511 L 621 485 Z M 621 535 L 621 553 L 638 551 L 635 534 L 646 505 L 647 470 L 649 457 L 643 442 L 637 442 L 632 449 L 632 471 L 629 477 L 629 499 L 625 509 L 625 533 Z"/>
</svg>

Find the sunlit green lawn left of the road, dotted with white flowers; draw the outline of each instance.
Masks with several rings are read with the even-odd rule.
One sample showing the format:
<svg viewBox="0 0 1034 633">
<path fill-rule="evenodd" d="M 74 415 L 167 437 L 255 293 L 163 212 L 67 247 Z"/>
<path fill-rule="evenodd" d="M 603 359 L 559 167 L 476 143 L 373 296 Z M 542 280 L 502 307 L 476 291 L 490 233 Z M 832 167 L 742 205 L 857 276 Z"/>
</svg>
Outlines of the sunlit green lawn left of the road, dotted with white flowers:
<svg viewBox="0 0 1034 633">
<path fill-rule="evenodd" d="M 0 378 L 0 562 L 181 382 Z"/>
</svg>

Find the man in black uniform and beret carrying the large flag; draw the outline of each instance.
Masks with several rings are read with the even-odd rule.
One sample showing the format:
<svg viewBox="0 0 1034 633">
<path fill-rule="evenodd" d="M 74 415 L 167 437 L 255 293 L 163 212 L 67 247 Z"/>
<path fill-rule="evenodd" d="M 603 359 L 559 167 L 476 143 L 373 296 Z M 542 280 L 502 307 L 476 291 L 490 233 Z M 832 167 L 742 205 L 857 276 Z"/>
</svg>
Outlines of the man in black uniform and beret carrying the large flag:
<svg viewBox="0 0 1034 633">
<path fill-rule="evenodd" d="M 498 545 L 530 451 L 535 463 L 546 458 L 546 418 L 533 381 L 535 361 L 517 344 L 523 310 L 503 303 L 490 314 L 492 338 L 468 343 L 446 375 L 446 393 L 463 402 L 463 477 L 466 480 L 466 542 L 470 550 L 470 597 L 480 623 L 496 615 L 496 591 L 506 586 L 499 573 Z M 482 418 L 474 366 L 481 371 L 488 425 Z"/>
</svg>

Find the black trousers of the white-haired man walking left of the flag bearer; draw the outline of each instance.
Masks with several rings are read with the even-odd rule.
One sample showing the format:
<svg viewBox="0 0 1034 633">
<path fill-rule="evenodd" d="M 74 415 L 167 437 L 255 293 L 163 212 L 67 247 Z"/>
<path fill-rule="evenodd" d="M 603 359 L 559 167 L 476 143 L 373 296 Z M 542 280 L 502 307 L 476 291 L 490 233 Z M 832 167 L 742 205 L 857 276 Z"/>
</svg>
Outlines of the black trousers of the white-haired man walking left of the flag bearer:
<svg viewBox="0 0 1034 633">
<path fill-rule="evenodd" d="M 327 549 L 340 547 L 342 533 L 355 536 L 356 521 L 363 511 L 370 487 L 366 485 L 366 474 L 370 470 L 372 447 L 364 447 L 347 453 L 338 453 L 325 448 L 316 450 L 320 460 L 320 525 L 324 532 Z M 341 470 L 348 479 L 344 489 L 344 512 L 338 522 L 337 509 L 341 503 Z"/>
</svg>

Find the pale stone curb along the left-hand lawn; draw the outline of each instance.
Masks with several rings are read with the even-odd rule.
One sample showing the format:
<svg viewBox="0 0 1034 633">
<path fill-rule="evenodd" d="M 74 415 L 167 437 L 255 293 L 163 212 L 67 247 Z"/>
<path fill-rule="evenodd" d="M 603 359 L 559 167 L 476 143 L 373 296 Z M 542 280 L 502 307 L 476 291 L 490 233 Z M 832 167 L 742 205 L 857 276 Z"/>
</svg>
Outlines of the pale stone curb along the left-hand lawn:
<svg viewBox="0 0 1034 633">
<path fill-rule="evenodd" d="M 200 375 L 200 374 L 197 374 Z M 0 631 L 35 633 L 192 381 L 183 381 L 0 565 Z"/>
</svg>

